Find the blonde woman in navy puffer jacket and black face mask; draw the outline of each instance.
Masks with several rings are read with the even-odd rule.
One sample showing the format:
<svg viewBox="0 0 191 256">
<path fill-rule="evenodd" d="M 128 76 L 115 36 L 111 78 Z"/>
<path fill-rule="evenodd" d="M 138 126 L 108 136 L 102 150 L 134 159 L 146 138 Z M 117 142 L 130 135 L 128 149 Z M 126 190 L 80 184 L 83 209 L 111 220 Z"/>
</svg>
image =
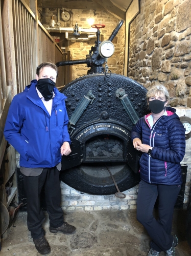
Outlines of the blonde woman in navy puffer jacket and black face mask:
<svg viewBox="0 0 191 256">
<path fill-rule="evenodd" d="M 185 154 L 185 129 L 176 110 L 166 107 L 169 92 L 162 85 L 147 93 L 151 113 L 142 117 L 131 132 L 134 148 L 142 152 L 137 220 L 147 229 L 152 241 L 148 256 L 174 256 L 178 243 L 171 235 L 174 205 L 182 184 L 180 162 Z M 159 219 L 153 216 L 159 199 Z"/>
</svg>

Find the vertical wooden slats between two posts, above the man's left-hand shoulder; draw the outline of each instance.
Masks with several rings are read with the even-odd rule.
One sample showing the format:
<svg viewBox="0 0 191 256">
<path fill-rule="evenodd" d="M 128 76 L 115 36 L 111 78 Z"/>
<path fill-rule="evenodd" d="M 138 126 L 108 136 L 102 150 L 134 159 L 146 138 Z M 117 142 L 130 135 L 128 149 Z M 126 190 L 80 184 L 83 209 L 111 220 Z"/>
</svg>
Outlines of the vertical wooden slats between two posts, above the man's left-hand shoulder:
<svg viewBox="0 0 191 256">
<path fill-rule="evenodd" d="M 13 1 L 13 27 L 17 93 L 22 92 L 35 77 L 35 15 L 25 3 Z"/>
</svg>

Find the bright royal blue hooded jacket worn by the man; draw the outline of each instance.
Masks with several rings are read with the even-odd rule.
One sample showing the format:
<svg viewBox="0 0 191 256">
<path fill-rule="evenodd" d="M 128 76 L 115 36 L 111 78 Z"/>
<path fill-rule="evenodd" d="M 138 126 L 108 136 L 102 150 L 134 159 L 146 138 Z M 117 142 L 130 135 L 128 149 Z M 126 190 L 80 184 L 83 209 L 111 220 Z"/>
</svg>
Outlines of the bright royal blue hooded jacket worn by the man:
<svg viewBox="0 0 191 256">
<path fill-rule="evenodd" d="M 60 148 L 69 142 L 66 96 L 54 87 L 51 116 L 36 91 L 37 80 L 14 96 L 4 135 L 20 153 L 20 166 L 51 168 L 61 162 Z"/>
</svg>

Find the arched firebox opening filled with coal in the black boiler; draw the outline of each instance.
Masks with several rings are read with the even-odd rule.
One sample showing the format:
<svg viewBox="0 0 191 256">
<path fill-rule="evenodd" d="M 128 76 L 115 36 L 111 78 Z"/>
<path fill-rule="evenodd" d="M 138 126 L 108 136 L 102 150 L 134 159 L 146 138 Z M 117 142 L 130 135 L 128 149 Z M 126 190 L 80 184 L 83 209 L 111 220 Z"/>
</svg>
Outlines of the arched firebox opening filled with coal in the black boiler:
<svg viewBox="0 0 191 256">
<path fill-rule="evenodd" d="M 126 143 L 112 134 L 99 134 L 85 143 L 84 162 L 125 162 Z"/>
</svg>

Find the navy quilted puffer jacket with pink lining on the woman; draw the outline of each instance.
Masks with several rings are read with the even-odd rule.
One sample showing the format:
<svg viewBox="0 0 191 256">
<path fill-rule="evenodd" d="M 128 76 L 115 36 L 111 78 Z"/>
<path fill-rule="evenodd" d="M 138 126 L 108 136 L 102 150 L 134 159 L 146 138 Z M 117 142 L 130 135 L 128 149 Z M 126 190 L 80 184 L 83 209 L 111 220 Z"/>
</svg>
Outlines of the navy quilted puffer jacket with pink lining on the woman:
<svg viewBox="0 0 191 256">
<path fill-rule="evenodd" d="M 147 183 L 180 185 L 182 172 L 180 162 L 185 154 L 185 129 L 176 110 L 166 107 L 168 115 L 162 115 L 152 129 L 148 115 L 139 119 L 131 131 L 131 140 L 138 137 L 142 144 L 153 147 L 151 156 L 140 157 L 140 178 Z"/>
</svg>

